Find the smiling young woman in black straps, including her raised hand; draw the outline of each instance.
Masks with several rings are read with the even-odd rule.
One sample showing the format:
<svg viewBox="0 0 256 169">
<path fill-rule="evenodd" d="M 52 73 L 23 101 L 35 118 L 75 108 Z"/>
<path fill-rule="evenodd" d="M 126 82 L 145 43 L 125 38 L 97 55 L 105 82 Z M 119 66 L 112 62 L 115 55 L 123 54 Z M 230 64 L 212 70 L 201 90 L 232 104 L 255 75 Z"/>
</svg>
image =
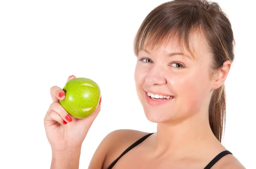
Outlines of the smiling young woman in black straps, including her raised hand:
<svg viewBox="0 0 256 169">
<path fill-rule="evenodd" d="M 224 82 L 234 59 L 233 31 L 217 3 L 174 0 L 154 8 L 134 39 L 137 95 L 157 132 L 116 130 L 89 169 L 244 169 L 222 144 Z M 76 78 L 70 76 L 68 80 Z M 44 118 L 52 169 L 78 169 L 81 144 L 100 111 L 75 119 L 60 87 Z M 101 101 L 101 100 L 100 100 Z"/>
</svg>

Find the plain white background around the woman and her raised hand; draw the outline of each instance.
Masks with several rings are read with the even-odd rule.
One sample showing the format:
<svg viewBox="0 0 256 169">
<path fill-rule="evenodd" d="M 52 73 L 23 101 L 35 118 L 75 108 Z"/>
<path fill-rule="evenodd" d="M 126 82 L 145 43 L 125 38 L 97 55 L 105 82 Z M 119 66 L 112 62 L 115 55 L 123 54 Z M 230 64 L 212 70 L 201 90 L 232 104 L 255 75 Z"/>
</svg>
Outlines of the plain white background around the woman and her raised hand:
<svg viewBox="0 0 256 169">
<path fill-rule="evenodd" d="M 43 119 L 49 89 L 70 75 L 101 87 L 102 110 L 83 143 L 80 168 L 117 129 L 155 132 L 137 99 L 133 39 L 146 15 L 164 0 L 0 1 L 0 168 L 48 169 L 51 147 Z M 255 167 L 254 0 L 218 0 L 236 39 L 236 59 L 225 82 L 224 146 Z"/>
</svg>

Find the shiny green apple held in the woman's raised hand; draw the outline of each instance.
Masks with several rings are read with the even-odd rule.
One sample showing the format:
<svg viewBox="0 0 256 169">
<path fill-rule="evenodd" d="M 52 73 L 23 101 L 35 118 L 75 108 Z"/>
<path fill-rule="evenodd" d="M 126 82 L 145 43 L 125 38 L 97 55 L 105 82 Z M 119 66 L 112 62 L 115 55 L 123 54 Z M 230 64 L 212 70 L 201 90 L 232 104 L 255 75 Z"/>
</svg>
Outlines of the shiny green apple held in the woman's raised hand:
<svg viewBox="0 0 256 169">
<path fill-rule="evenodd" d="M 65 99 L 61 106 L 75 118 L 86 118 L 97 108 L 100 99 L 100 88 L 96 82 L 87 78 L 69 80 L 63 90 Z"/>
</svg>

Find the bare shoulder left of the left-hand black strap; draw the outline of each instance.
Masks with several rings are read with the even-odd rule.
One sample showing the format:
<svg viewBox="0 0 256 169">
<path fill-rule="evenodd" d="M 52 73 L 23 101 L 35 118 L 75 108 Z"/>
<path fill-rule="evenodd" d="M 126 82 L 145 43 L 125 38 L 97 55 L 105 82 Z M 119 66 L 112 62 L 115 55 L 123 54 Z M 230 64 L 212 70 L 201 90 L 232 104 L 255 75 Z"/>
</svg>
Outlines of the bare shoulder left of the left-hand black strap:
<svg viewBox="0 0 256 169">
<path fill-rule="evenodd" d="M 101 141 L 90 161 L 90 168 L 108 168 L 131 144 L 148 132 L 120 129 L 110 132 Z"/>
</svg>

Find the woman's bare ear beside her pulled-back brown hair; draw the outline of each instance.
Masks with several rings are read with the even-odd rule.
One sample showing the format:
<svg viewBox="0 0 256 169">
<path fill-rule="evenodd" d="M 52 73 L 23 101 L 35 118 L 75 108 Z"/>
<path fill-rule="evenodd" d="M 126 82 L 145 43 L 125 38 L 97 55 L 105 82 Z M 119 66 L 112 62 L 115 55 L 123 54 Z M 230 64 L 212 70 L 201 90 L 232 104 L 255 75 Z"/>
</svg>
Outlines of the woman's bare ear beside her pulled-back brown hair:
<svg viewBox="0 0 256 169">
<path fill-rule="evenodd" d="M 231 68 L 231 62 L 229 60 L 225 61 L 222 65 L 222 68 L 217 71 L 215 74 L 215 78 L 213 79 L 213 85 L 212 85 L 212 90 L 218 89 L 221 87 L 221 85 L 224 84 L 227 75 L 230 71 Z"/>
</svg>

